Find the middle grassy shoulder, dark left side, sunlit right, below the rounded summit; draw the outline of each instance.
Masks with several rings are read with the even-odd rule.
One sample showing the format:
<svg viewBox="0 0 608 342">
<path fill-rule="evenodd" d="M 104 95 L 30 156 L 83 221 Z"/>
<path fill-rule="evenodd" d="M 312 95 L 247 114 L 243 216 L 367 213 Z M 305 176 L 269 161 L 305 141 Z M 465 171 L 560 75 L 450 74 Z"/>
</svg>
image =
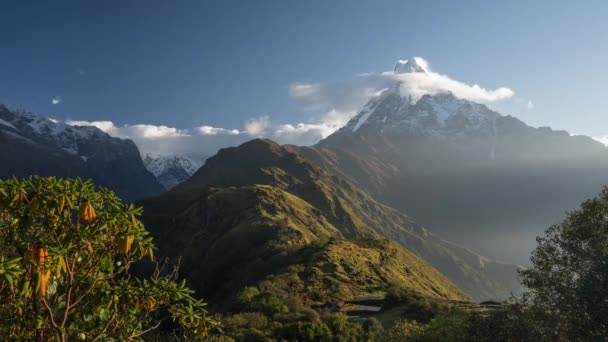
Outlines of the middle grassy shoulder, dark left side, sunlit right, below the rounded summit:
<svg viewBox="0 0 608 342">
<path fill-rule="evenodd" d="M 181 256 L 182 275 L 208 298 L 232 296 L 289 265 L 302 246 L 340 236 L 318 210 L 270 186 L 171 194 L 144 206 L 159 254 Z"/>
</svg>

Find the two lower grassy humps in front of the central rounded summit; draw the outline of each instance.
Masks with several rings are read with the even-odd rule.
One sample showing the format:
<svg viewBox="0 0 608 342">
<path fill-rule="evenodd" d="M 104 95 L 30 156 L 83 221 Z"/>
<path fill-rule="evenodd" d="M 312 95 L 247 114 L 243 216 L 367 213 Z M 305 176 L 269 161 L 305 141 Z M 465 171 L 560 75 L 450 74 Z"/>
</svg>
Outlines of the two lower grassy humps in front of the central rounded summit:
<svg viewBox="0 0 608 342">
<path fill-rule="evenodd" d="M 467 298 L 401 246 L 391 244 L 381 252 L 341 240 L 341 232 L 318 209 L 277 187 L 169 192 L 144 201 L 144 208 L 146 225 L 163 227 L 153 230 L 159 253 L 181 256 L 181 275 L 224 307 L 244 286 L 292 273 L 293 267 L 301 268 L 296 273 L 308 283 L 319 282 L 315 296 L 324 300 L 346 300 L 393 283 L 425 295 Z M 310 272 L 317 276 L 307 276 Z"/>
</svg>

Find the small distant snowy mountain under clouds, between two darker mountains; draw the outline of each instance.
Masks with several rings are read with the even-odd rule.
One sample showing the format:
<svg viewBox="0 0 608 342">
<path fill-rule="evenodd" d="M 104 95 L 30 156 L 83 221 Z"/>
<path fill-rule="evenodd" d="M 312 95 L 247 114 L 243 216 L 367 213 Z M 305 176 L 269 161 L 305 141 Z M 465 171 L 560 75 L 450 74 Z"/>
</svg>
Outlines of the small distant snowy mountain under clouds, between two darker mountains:
<svg viewBox="0 0 608 342">
<path fill-rule="evenodd" d="M 191 156 L 152 153 L 146 153 L 143 162 L 146 169 L 152 172 L 167 190 L 190 178 L 203 165 L 202 160 Z"/>
</svg>

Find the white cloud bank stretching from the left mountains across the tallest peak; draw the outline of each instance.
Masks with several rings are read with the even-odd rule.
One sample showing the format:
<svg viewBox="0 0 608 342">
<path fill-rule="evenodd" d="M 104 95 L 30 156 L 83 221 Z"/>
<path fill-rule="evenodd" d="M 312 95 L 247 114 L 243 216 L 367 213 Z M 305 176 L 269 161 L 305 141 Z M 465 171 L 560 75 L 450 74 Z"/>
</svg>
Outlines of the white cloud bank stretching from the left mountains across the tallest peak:
<svg viewBox="0 0 608 342">
<path fill-rule="evenodd" d="M 415 99 L 425 94 L 452 92 L 459 98 L 490 103 L 514 95 L 506 87 L 486 89 L 477 84 L 454 80 L 433 71 L 426 60 L 420 57 L 414 60 L 417 70 L 423 72 L 365 73 L 334 84 L 292 83 L 289 96 L 304 110 L 314 113 L 315 119 L 306 123 L 275 124 L 268 115 L 260 115 L 247 120 L 238 129 L 212 126 L 176 128 L 151 124 L 117 126 L 111 121 L 68 121 L 68 124 L 96 126 L 112 136 L 132 139 L 142 153 L 208 157 L 222 147 L 235 146 L 252 138 L 270 138 L 283 144 L 313 145 L 344 126 L 370 98 L 380 95 L 397 82 L 401 84 L 402 95 Z M 402 64 L 406 62 L 401 61 Z M 528 107 L 533 107 L 532 102 Z"/>
</svg>

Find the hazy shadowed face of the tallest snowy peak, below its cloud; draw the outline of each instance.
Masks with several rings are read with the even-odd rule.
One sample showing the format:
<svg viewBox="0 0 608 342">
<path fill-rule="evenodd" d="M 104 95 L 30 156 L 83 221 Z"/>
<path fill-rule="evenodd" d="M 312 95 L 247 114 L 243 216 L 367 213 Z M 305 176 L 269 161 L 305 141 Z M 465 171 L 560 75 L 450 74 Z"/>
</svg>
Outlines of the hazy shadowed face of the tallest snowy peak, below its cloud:
<svg viewBox="0 0 608 342">
<path fill-rule="evenodd" d="M 608 183 L 608 151 L 451 94 L 398 87 L 315 147 L 291 147 L 441 236 L 526 264 L 535 237 Z"/>
</svg>

